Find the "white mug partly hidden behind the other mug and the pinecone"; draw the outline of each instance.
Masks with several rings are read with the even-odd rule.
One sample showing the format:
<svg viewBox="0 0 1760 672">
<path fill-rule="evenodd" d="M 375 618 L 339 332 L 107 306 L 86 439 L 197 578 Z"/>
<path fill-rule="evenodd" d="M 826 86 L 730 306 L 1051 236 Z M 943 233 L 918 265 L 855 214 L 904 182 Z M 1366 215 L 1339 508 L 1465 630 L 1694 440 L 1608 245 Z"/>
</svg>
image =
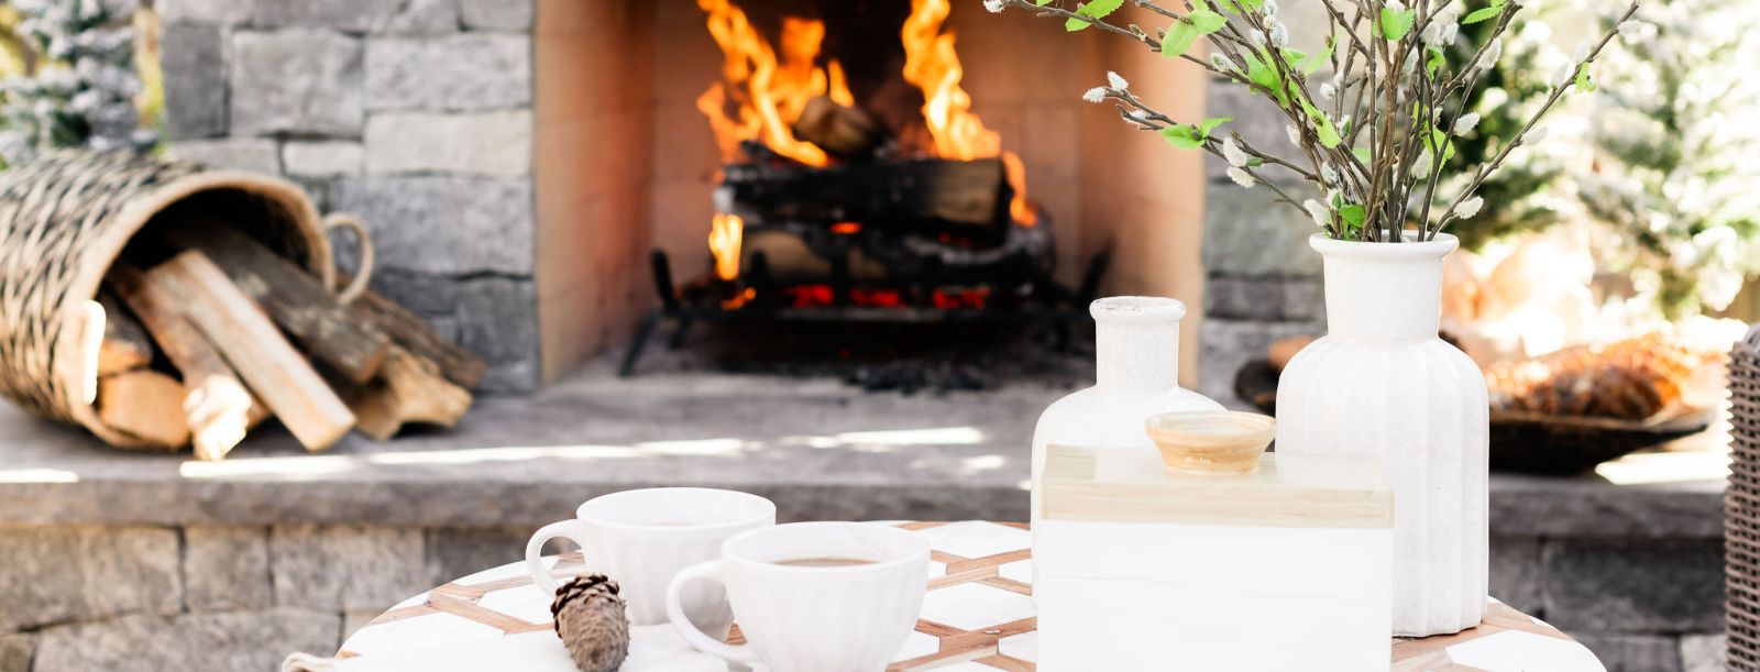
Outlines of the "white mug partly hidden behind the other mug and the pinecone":
<svg viewBox="0 0 1760 672">
<path fill-rule="evenodd" d="M 556 581 L 544 570 L 544 544 L 563 537 L 581 545 L 588 572 L 621 586 L 630 623 L 667 621 L 665 589 L 679 570 L 713 559 L 727 538 L 776 524 L 776 505 L 748 493 L 706 487 L 653 487 L 588 500 L 572 521 L 551 522 L 526 544 L 526 572 L 546 593 Z M 699 628 L 727 635 L 732 610 L 718 586 L 699 586 L 681 612 Z"/>
</svg>

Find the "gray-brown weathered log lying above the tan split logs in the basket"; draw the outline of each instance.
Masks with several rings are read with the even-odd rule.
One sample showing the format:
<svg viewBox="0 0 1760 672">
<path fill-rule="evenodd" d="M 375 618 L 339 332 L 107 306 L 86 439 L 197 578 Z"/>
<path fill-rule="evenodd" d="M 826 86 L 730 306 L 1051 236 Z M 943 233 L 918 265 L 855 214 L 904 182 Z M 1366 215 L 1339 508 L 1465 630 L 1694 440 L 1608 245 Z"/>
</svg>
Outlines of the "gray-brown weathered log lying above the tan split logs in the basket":
<svg viewBox="0 0 1760 672">
<path fill-rule="evenodd" d="M 245 232 L 197 215 L 181 215 L 162 236 L 201 250 L 317 362 L 350 382 L 373 380 L 391 340 L 356 318 L 319 278 Z"/>
</svg>

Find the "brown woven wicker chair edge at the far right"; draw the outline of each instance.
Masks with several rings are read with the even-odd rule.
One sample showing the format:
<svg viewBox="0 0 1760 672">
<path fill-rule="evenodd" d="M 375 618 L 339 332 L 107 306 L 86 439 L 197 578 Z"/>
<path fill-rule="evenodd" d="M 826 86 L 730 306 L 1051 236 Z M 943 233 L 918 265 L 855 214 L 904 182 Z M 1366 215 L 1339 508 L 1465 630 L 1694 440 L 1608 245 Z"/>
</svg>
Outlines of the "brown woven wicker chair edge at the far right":
<svg viewBox="0 0 1760 672">
<path fill-rule="evenodd" d="M 1730 352 L 1730 436 L 1723 494 L 1728 668 L 1760 670 L 1760 325 Z"/>
</svg>

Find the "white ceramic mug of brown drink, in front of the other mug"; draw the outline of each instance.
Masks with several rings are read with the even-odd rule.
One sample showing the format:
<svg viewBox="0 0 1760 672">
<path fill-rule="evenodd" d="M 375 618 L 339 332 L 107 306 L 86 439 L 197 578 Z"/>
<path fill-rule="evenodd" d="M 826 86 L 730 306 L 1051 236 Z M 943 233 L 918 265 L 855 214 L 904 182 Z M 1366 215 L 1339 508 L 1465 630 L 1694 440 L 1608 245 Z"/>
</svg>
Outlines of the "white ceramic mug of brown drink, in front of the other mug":
<svg viewBox="0 0 1760 672">
<path fill-rule="evenodd" d="M 847 559 L 859 565 L 799 566 Z M 720 584 L 744 633 L 729 646 L 681 619 L 693 586 Z M 771 672 L 878 672 L 922 612 L 929 542 L 871 522 L 792 522 L 739 533 L 722 559 L 693 565 L 667 588 L 672 626 L 699 651 Z"/>
</svg>

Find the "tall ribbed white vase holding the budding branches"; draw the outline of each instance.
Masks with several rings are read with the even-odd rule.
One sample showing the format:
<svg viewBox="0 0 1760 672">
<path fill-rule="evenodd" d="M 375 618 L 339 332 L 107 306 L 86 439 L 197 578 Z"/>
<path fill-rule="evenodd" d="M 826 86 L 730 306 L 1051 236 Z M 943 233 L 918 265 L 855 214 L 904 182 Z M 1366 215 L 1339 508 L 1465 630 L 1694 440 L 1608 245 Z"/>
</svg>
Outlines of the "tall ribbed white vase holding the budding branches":
<svg viewBox="0 0 1760 672">
<path fill-rule="evenodd" d="M 1438 338 L 1441 262 L 1459 246 L 1315 236 L 1329 334 L 1278 382 L 1280 454 L 1378 456 L 1394 489 L 1394 635 L 1485 616 L 1485 378 Z M 1301 561 L 1301 558 L 1292 558 Z"/>
</svg>

